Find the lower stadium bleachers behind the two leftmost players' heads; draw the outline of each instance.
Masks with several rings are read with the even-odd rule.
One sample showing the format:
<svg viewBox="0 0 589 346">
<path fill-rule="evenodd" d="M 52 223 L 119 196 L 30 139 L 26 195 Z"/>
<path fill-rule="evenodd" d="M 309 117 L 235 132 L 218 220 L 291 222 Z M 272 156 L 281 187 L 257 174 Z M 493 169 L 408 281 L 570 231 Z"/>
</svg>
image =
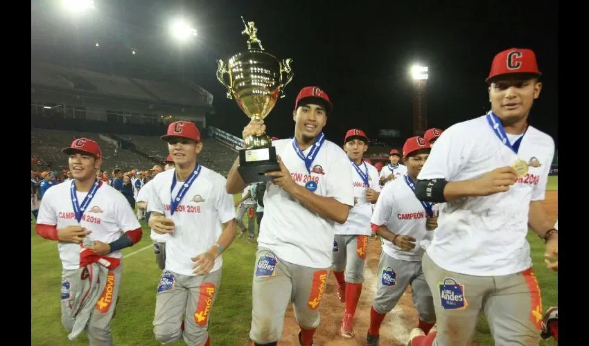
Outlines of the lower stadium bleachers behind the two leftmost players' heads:
<svg viewBox="0 0 589 346">
<path fill-rule="evenodd" d="M 103 170 L 112 172 L 116 167 L 125 172 L 134 168 L 146 170 L 156 164 L 154 161 L 130 150 L 118 149 L 118 154 L 115 156 L 114 145 L 102 140 L 99 134 L 53 129 L 31 129 L 31 154 L 39 158 L 41 167 L 46 167 L 46 163 L 51 162 L 55 170 L 61 170 L 62 167 L 67 167 L 67 157 L 62 154 L 61 150 L 71 145 L 73 136 L 87 137 L 98 142 L 104 156 Z M 123 135 L 121 137 L 131 138 L 131 143 L 135 145 L 137 150 L 152 156 L 157 161 L 164 161 L 168 156 L 166 143 L 162 142 L 158 136 Z M 227 176 L 237 156 L 236 152 L 214 139 L 203 140 L 203 145 L 204 149 L 199 162 L 211 170 Z"/>
</svg>

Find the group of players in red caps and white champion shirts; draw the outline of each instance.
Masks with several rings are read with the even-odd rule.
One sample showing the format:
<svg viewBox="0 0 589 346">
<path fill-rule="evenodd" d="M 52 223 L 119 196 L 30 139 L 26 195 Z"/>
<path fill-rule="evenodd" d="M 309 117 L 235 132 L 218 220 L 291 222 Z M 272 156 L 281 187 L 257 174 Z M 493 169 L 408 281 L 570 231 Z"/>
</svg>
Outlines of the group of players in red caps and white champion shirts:
<svg viewBox="0 0 589 346">
<path fill-rule="evenodd" d="M 313 345 L 330 272 L 345 304 L 340 335 L 355 337 L 373 234 L 383 251 L 366 345 L 379 345 L 380 325 L 408 286 L 419 316 L 408 345 L 470 345 L 481 312 L 497 345 L 538 345 L 540 331 L 557 339 L 558 311 L 543 314 L 526 240 L 528 228 L 545 239 L 545 264 L 558 270 L 558 230 L 542 205 L 554 141 L 528 121 L 540 75 L 533 51 L 498 53 L 486 79 L 491 110 L 443 133 L 408 138 L 380 176 L 362 158 L 364 131 L 350 129 L 340 144 L 327 140 L 323 128 L 337 122 L 333 103 L 317 86 L 301 89 L 294 136 L 272 141 L 279 170 L 265 173 L 263 183 L 252 263 L 253 345 L 277 345 L 289 303 L 300 345 Z M 264 133 L 265 125 L 252 121 L 243 138 Z M 171 162 L 143 185 L 139 206 L 149 215 L 162 270 L 153 332 L 160 343 L 183 338 L 208 346 L 221 254 L 238 227 L 233 194 L 252 182 L 240 175 L 239 158 L 227 179 L 200 165 L 206 148 L 192 122 L 171 123 L 161 138 Z M 121 249 L 139 242 L 141 226 L 123 194 L 96 179 L 96 142 L 78 138 L 63 152 L 73 180 L 46 191 L 37 233 L 58 241 L 69 338 L 86 331 L 90 345 L 112 345 Z"/>
</svg>

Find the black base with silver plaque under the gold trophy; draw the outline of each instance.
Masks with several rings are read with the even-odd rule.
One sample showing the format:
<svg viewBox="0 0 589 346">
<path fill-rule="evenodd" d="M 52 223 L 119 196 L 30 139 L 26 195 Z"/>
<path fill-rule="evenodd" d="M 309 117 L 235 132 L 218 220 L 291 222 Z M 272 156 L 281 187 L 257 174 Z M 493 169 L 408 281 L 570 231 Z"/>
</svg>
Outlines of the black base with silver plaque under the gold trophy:
<svg viewBox="0 0 589 346">
<path fill-rule="evenodd" d="M 276 148 L 241 149 L 239 151 L 238 172 L 245 183 L 258 183 L 272 180 L 271 176 L 265 176 L 267 172 L 280 170 L 276 160 Z"/>
</svg>

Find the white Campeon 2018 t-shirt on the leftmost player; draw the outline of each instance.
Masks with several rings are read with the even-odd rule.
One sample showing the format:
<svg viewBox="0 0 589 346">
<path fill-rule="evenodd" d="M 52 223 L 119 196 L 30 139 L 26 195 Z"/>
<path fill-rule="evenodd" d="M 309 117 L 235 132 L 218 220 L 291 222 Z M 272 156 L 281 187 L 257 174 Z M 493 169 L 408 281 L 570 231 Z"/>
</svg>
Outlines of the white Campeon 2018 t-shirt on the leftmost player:
<svg viewBox="0 0 589 346">
<path fill-rule="evenodd" d="M 121 230 L 127 232 L 141 228 L 123 194 L 104 183 L 94 194 L 94 198 L 78 223 L 73 212 L 70 188 L 71 182 L 55 185 L 45 192 L 39 208 L 37 224 L 55 226 L 58 230 L 79 225 L 92 231 L 86 237 L 106 244 L 120 238 Z M 76 191 L 78 206 L 82 206 L 87 194 L 88 192 Z M 80 244 L 58 242 L 58 250 L 64 269 L 80 268 Z M 122 257 L 121 251 L 114 251 L 107 256 Z"/>
</svg>

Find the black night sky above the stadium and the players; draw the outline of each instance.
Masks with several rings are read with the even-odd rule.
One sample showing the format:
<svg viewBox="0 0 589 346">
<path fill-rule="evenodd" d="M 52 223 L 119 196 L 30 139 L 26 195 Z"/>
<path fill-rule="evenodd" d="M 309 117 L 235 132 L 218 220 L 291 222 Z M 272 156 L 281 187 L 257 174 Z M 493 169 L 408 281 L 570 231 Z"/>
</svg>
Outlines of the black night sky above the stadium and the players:
<svg viewBox="0 0 589 346">
<path fill-rule="evenodd" d="M 447 128 L 489 109 L 484 79 L 495 53 L 531 48 L 544 84 L 530 123 L 556 142 L 556 1 L 174 1 L 96 0 L 96 10 L 64 17 L 59 1 L 32 1 L 31 57 L 134 78 L 187 78 L 213 93 L 208 122 L 240 135 L 247 117 L 225 97 L 216 60 L 247 50 L 243 24 L 255 21 L 266 51 L 291 57 L 294 79 L 265 120 L 270 136 L 293 134 L 292 107 L 302 86 L 320 86 L 334 103 L 325 132 L 412 131 L 414 62 L 429 66 L 430 127 Z M 183 15 L 197 38 L 179 46 L 168 21 Z M 94 42 L 100 42 L 100 49 Z M 137 55 L 130 54 L 137 49 Z"/>
</svg>

